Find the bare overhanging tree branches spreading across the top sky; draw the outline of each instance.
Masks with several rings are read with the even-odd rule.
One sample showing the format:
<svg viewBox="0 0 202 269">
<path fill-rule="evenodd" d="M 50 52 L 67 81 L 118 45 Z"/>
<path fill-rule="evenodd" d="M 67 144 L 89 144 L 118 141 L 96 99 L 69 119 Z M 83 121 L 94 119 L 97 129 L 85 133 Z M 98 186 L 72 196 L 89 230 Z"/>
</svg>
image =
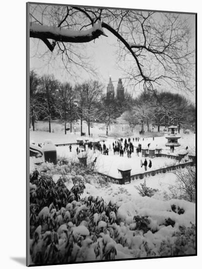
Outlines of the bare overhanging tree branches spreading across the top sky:
<svg viewBox="0 0 202 269">
<path fill-rule="evenodd" d="M 84 45 L 107 37 L 105 31 L 117 38 L 119 62 L 134 86 L 194 89 L 195 47 L 183 14 L 30 5 L 30 37 L 40 39 L 53 57 L 61 55 L 69 72 L 71 64 L 89 70 Z"/>
</svg>

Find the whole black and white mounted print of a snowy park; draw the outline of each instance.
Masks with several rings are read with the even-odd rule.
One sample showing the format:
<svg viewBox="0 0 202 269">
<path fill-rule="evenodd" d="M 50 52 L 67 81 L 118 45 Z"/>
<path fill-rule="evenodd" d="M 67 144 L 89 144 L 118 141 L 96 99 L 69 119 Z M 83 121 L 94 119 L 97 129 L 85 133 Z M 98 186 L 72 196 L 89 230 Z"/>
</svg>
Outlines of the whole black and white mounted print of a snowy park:
<svg viewBox="0 0 202 269">
<path fill-rule="evenodd" d="M 197 255 L 188 11 L 26 4 L 27 266 Z"/>
</svg>

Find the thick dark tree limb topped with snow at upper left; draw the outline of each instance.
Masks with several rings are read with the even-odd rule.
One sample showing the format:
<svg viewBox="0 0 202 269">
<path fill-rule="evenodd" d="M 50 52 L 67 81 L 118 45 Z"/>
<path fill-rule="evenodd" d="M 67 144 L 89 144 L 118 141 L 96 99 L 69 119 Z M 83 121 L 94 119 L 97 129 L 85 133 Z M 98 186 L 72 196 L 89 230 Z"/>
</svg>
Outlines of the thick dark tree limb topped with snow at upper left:
<svg viewBox="0 0 202 269">
<path fill-rule="evenodd" d="M 52 39 L 61 42 L 85 43 L 99 38 L 101 35 L 106 36 L 101 26 L 101 22 L 95 23 L 87 30 L 69 30 L 37 23 L 30 24 L 30 37 L 40 38 L 42 40 Z"/>
</svg>

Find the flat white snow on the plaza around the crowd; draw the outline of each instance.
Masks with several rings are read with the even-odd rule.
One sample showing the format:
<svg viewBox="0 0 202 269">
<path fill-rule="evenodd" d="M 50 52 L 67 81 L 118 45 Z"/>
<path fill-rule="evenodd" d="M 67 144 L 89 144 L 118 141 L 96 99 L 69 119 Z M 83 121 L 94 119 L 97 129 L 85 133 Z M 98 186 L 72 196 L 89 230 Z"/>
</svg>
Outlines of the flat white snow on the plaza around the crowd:
<svg viewBox="0 0 202 269">
<path fill-rule="evenodd" d="M 45 124 L 42 122 L 39 122 L 37 124 L 38 129 L 37 130 L 41 130 L 41 131 L 30 131 L 30 141 L 34 140 L 36 145 L 38 145 L 38 143 L 43 143 L 44 140 L 46 139 L 51 139 L 53 141 L 53 143 L 57 144 L 57 143 L 75 143 L 77 142 L 77 138 L 80 137 L 79 134 L 79 123 L 74 123 L 75 125 L 73 125 L 73 130 L 75 127 L 75 131 L 76 133 L 67 133 L 66 135 L 63 134 L 62 131 L 62 126 L 61 124 L 58 124 L 57 122 L 53 122 L 52 123 L 52 127 L 54 128 L 54 133 L 48 133 L 48 132 L 44 132 L 44 126 Z M 103 133 L 104 130 L 104 125 L 103 124 L 92 124 L 91 126 L 93 126 L 93 134 L 98 137 L 98 135 L 100 133 Z M 85 131 L 85 129 L 87 128 L 87 125 L 85 123 L 83 123 L 83 130 Z M 111 129 L 116 130 L 117 129 L 117 125 L 116 126 L 111 126 Z M 87 131 L 87 130 L 86 130 Z M 137 131 L 137 130 L 136 130 Z M 152 133 L 150 133 L 152 135 Z M 130 136 L 131 141 L 133 142 L 133 137 L 135 138 L 137 136 L 137 134 L 134 134 L 134 136 Z M 177 155 L 178 151 L 181 149 L 185 149 L 186 146 L 188 146 L 189 149 L 192 149 L 195 147 L 195 134 L 190 133 L 190 134 L 183 134 L 183 132 L 181 132 L 181 138 L 179 139 L 179 142 L 181 144 L 181 146 L 179 148 L 176 148 L 174 153 L 170 152 L 170 149 L 168 147 L 165 146 L 165 143 L 167 142 L 167 139 L 164 136 L 161 137 L 155 137 L 153 140 L 153 137 L 147 137 L 147 138 L 143 138 L 141 137 L 139 142 L 134 141 L 133 145 L 134 145 L 134 153 L 132 153 L 132 157 L 129 159 L 127 158 L 126 154 L 124 154 L 124 157 L 120 157 L 118 155 L 114 155 L 113 150 L 112 150 L 112 143 L 115 141 L 115 138 L 109 137 L 109 138 L 100 138 L 101 139 L 101 144 L 103 144 L 102 140 L 105 140 L 105 144 L 106 147 L 109 148 L 109 156 L 105 156 L 105 155 L 101 155 L 99 152 L 93 153 L 93 151 L 90 153 L 91 155 L 91 160 L 94 160 L 95 157 L 97 157 L 97 162 L 96 162 L 96 169 L 97 171 L 105 174 L 105 175 L 109 175 L 115 178 L 121 178 L 121 174 L 118 173 L 118 166 L 121 163 L 127 163 L 131 166 L 132 170 L 131 170 L 131 175 L 134 174 L 139 174 L 139 173 L 143 173 L 144 172 L 144 168 L 141 168 L 141 160 L 144 161 L 144 158 L 140 156 L 138 157 L 136 155 L 136 148 L 138 146 L 138 143 L 141 143 L 142 147 L 143 146 L 147 146 L 150 143 L 150 148 L 154 147 L 156 148 L 156 146 L 158 147 L 162 147 L 162 153 L 165 154 L 172 154 L 172 155 Z M 83 137 L 84 139 L 88 139 L 88 137 Z M 122 136 L 123 141 L 125 138 Z M 144 140 L 143 140 L 144 139 Z M 57 156 L 58 157 L 70 157 L 72 159 L 74 159 L 75 161 L 78 160 L 77 155 L 76 155 L 76 148 L 77 146 L 72 146 L 72 153 L 69 152 L 69 147 L 57 147 Z M 147 158 L 147 161 L 149 160 L 149 158 Z M 32 166 L 32 160 L 30 162 L 31 166 Z M 163 167 L 167 167 L 167 166 L 171 166 L 173 164 L 176 163 L 176 160 L 171 159 L 171 158 L 166 158 L 166 157 L 158 157 L 158 158 L 153 158 L 152 159 L 152 168 L 148 169 L 148 170 L 154 170 L 154 169 L 160 169 Z"/>
</svg>

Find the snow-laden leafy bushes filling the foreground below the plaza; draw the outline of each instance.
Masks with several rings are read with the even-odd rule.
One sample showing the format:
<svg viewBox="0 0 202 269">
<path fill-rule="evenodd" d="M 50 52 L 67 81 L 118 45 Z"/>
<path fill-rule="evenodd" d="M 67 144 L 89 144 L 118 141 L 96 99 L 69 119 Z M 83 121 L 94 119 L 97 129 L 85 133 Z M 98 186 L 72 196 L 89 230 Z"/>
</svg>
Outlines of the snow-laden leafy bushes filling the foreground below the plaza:
<svg viewBox="0 0 202 269">
<path fill-rule="evenodd" d="M 68 172 L 62 174 L 64 170 Z M 179 255 L 195 252 L 194 228 L 188 229 L 194 218 L 192 203 L 150 198 L 153 189 L 146 184 L 144 194 L 148 195 L 135 202 L 106 202 L 90 191 L 84 197 L 85 184 L 100 187 L 101 180 L 109 184 L 92 170 L 69 163 L 46 172 L 36 170 L 30 176 L 30 255 L 34 264 L 163 256 L 171 253 L 172 244 Z M 119 198 L 127 196 L 123 186 L 116 186 L 116 191 Z"/>
</svg>

